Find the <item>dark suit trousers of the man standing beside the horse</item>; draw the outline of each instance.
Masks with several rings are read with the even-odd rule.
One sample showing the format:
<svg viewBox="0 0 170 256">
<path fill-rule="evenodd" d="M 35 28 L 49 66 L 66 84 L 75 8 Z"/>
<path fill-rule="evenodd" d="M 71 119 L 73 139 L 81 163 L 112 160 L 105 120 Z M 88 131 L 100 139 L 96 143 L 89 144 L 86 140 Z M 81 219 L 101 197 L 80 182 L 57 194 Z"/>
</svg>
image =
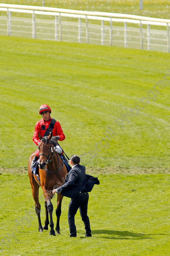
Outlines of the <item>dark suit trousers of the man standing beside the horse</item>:
<svg viewBox="0 0 170 256">
<path fill-rule="evenodd" d="M 89 200 L 89 194 L 78 194 L 71 198 L 70 204 L 69 204 L 69 210 L 68 210 L 68 222 L 69 222 L 69 228 L 70 228 L 70 236 L 77 236 L 77 230 L 75 225 L 74 217 L 77 213 L 77 210 L 79 208 L 80 210 L 80 216 L 82 221 L 84 222 L 86 235 L 88 236 L 91 234 L 90 229 L 90 221 L 89 217 L 87 216 L 87 206 L 88 206 L 88 200 Z"/>
</svg>

